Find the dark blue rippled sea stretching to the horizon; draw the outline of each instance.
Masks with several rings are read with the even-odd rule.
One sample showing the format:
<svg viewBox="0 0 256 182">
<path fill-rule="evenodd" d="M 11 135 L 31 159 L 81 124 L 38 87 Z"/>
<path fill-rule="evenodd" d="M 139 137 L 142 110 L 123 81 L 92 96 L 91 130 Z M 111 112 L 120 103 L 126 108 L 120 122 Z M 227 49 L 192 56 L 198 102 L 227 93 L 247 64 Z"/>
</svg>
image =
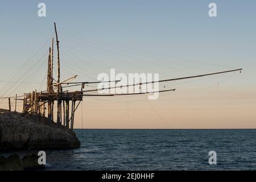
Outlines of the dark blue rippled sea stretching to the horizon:
<svg viewBox="0 0 256 182">
<path fill-rule="evenodd" d="M 81 147 L 47 150 L 46 170 L 256 169 L 256 130 L 74 131 Z"/>
</svg>

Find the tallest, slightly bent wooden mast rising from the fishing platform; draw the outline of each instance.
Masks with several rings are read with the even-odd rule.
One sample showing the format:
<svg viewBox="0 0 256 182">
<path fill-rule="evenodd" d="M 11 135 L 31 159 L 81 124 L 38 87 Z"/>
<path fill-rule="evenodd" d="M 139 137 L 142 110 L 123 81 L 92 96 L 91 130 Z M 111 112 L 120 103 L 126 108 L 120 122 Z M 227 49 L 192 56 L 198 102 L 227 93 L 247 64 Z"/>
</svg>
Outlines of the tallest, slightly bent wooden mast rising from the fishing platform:
<svg viewBox="0 0 256 182">
<path fill-rule="evenodd" d="M 59 40 L 57 35 L 56 23 L 54 23 L 55 34 L 56 34 L 56 43 L 57 43 L 57 83 L 60 82 L 60 52 L 59 52 Z M 57 87 L 57 126 L 60 126 L 60 110 L 61 110 L 61 102 L 60 102 L 60 85 Z"/>
</svg>

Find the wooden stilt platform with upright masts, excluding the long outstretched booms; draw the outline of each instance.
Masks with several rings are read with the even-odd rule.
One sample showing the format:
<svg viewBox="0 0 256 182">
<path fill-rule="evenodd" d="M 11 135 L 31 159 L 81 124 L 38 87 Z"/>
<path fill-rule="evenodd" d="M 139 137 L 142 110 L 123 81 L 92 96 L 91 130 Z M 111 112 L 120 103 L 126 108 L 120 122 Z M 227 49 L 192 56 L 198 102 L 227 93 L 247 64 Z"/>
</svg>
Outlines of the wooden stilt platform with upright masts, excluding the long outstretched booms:
<svg viewBox="0 0 256 182">
<path fill-rule="evenodd" d="M 54 39 L 52 38 L 51 47 L 49 47 L 49 55 L 48 55 L 48 72 L 47 72 L 47 92 L 36 92 L 33 91 L 31 93 L 24 94 L 23 99 L 23 113 L 31 113 L 34 115 L 46 116 L 47 109 L 47 118 L 49 122 L 53 122 L 54 115 L 54 105 L 57 106 L 57 126 L 65 126 L 68 129 L 73 129 L 74 126 L 74 118 L 75 111 L 82 101 L 82 92 L 63 92 L 63 87 L 61 84 L 71 80 L 72 78 L 76 78 L 73 76 L 63 82 L 60 82 L 60 53 L 59 53 L 59 40 L 57 36 L 57 28 L 55 26 L 55 34 L 56 34 L 56 46 L 57 46 L 57 80 L 53 83 L 53 44 Z M 76 105 L 77 101 L 79 103 Z M 71 109 L 70 109 L 71 105 Z"/>
</svg>

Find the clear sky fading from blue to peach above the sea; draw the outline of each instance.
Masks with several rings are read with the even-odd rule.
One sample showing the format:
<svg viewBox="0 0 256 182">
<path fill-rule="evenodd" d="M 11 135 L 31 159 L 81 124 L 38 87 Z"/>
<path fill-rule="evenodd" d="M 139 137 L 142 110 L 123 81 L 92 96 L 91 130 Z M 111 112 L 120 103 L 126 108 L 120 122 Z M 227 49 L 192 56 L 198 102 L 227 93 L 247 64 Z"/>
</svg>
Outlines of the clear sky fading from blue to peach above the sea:
<svg viewBox="0 0 256 182">
<path fill-rule="evenodd" d="M 42 2 L 46 17 L 38 16 Z M 212 2 L 217 17 L 208 15 Z M 96 81 L 110 68 L 159 73 L 160 79 L 243 69 L 162 84 L 160 89 L 176 91 L 154 101 L 147 96 L 85 97 L 76 128 L 255 129 L 255 16 L 253 0 L 1 1 L 0 97 L 46 89 L 56 22 L 61 80 L 78 75 L 76 81 Z M 1 100 L 0 107 L 6 106 Z"/>
</svg>

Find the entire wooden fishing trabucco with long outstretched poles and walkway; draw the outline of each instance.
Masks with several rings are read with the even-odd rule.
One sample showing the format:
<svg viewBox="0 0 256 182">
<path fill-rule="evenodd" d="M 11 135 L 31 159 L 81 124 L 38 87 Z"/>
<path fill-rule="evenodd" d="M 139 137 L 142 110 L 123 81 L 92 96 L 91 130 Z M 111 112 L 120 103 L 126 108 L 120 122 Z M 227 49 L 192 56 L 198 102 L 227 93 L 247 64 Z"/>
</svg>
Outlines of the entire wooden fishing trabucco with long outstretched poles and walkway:
<svg viewBox="0 0 256 182">
<path fill-rule="evenodd" d="M 54 39 L 51 39 L 51 47 L 49 47 L 49 54 L 48 54 L 48 71 L 47 71 L 47 90 L 37 92 L 36 90 L 30 93 L 24 93 L 23 96 L 15 97 L 2 97 L 8 98 L 9 100 L 9 110 L 11 111 L 11 104 L 10 98 L 14 98 L 15 100 L 15 111 L 16 111 L 16 101 L 22 100 L 23 101 L 23 114 L 32 114 L 35 116 L 35 120 L 40 122 L 42 117 L 47 117 L 49 122 L 54 122 L 54 115 L 56 112 L 56 124 L 58 127 L 64 126 L 67 129 L 73 129 L 74 121 L 75 121 L 75 112 L 77 107 L 80 105 L 83 97 L 88 96 L 125 96 L 125 95 L 134 95 L 134 94 L 148 94 L 154 92 L 140 92 L 140 93 L 123 93 L 123 94 L 90 94 L 90 92 L 97 92 L 99 90 L 104 89 L 115 89 L 115 88 L 122 88 L 125 86 L 136 86 L 136 85 L 143 85 L 143 84 L 152 84 L 155 82 L 168 82 L 168 81 L 175 81 L 175 80 L 183 80 L 189 78 L 196 78 L 196 77 L 204 77 L 210 75 L 218 75 L 222 73 L 228 72 L 237 72 L 242 69 L 232 69 L 228 71 L 222 72 L 215 72 L 215 73 L 207 73 L 203 75 L 196 75 L 196 76 L 188 76 L 188 77 L 179 77 L 179 78 L 171 78 L 166 80 L 159 80 L 159 81 L 151 81 L 151 82 L 139 82 L 137 84 L 130 84 L 130 85 L 122 85 L 122 86 L 112 86 L 109 88 L 102 88 L 102 89 L 91 89 L 91 90 L 83 90 L 85 84 L 97 84 L 102 81 L 98 82 L 69 82 L 70 80 L 77 77 L 77 75 L 68 78 L 67 80 L 60 81 L 60 52 L 59 52 L 59 39 L 57 35 L 57 28 L 55 26 L 55 35 L 56 35 L 56 47 L 57 47 L 57 80 L 53 78 L 53 48 L 54 48 Z M 118 82 L 119 80 L 112 80 L 107 82 Z M 81 85 L 81 90 L 77 90 L 74 92 L 69 92 L 68 90 L 64 90 L 66 87 L 70 86 L 77 86 L 77 84 Z M 66 86 L 64 86 L 66 85 Z M 168 89 L 168 90 L 159 90 L 158 92 L 170 92 L 175 91 L 176 89 Z M 87 94 L 89 93 L 89 94 Z M 23 97 L 23 98 L 20 98 Z M 77 103 L 78 102 L 78 103 Z M 56 111 L 55 111 L 56 109 Z"/>
</svg>

